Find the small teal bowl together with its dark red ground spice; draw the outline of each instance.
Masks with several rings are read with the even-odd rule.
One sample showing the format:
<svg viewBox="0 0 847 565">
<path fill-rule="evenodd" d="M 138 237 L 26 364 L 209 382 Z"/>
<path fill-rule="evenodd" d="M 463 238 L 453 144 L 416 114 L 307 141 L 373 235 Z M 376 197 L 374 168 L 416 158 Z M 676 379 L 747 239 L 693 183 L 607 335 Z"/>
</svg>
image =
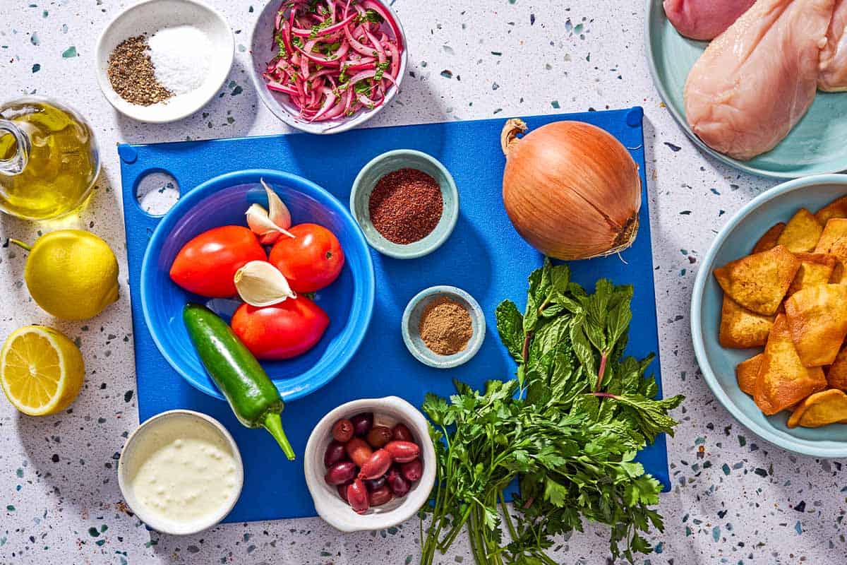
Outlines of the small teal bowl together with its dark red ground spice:
<svg viewBox="0 0 847 565">
<path fill-rule="evenodd" d="M 350 210 L 370 246 L 392 258 L 413 259 L 434 252 L 450 237 L 459 219 L 459 193 L 437 159 L 397 149 L 359 172 Z"/>
</svg>

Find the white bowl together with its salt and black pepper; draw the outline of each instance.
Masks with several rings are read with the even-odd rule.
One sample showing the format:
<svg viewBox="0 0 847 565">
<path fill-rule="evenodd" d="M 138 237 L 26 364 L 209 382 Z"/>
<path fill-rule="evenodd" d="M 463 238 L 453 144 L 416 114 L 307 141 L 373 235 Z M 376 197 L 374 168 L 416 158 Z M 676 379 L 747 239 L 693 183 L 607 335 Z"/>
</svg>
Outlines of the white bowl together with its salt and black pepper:
<svg viewBox="0 0 847 565">
<path fill-rule="evenodd" d="M 224 16 L 197 0 L 143 0 L 97 41 L 97 82 L 121 114 L 163 124 L 205 106 L 235 57 Z"/>
</svg>

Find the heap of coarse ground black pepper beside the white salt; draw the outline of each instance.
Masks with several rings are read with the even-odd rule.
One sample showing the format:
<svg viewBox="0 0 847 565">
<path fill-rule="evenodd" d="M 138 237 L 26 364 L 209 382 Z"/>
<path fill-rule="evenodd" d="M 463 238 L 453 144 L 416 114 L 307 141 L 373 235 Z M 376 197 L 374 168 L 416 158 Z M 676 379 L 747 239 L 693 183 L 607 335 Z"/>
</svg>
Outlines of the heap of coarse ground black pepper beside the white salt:
<svg viewBox="0 0 847 565">
<path fill-rule="evenodd" d="M 130 37 L 120 42 L 108 58 L 108 80 L 114 91 L 125 101 L 141 106 L 174 96 L 156 80 L 148 49 L 147 37 Z"/>
</svg>

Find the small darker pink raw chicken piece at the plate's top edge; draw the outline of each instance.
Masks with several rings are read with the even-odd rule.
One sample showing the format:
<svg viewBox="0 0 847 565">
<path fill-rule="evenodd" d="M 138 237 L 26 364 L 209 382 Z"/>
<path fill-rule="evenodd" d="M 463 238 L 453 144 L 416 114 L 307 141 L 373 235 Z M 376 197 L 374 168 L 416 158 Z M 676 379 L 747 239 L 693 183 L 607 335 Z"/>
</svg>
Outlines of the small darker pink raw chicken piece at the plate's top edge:
<svg viewBox="0 0 847 565">
<path fill-rule="evenodd" d="M 756 0 L 665 0 L 665 15 L 679 33 L 710 40 L 721 35 Z"/>
</svg>

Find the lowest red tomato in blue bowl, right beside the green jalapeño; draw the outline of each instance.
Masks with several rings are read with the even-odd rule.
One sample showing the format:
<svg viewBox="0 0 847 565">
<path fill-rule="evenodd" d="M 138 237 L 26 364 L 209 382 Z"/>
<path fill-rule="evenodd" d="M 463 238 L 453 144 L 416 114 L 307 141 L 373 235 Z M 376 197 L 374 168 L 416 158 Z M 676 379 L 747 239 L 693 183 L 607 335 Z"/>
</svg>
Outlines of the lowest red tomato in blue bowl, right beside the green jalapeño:
<svg viewBox="0 0 847 565">
<path fill-rule="evenodd" d="M 230 325 L 257 358 L 291 359 L 320 341 L 329 316 L 306 296 L 297 296 L 273 306 L 241 304 Z"/>
</svg>

